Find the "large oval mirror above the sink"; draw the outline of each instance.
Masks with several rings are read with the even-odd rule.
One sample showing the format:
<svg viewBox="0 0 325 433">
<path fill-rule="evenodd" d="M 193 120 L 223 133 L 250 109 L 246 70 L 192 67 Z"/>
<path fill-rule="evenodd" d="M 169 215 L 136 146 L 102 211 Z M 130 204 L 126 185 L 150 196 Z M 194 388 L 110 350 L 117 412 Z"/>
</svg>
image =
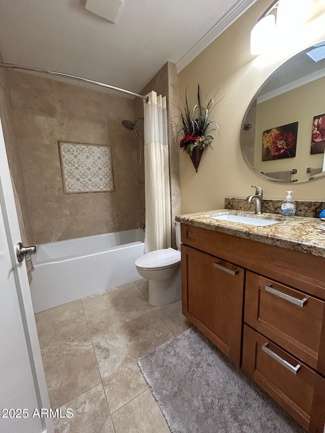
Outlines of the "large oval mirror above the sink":
<svg viewBox="0 0 325 433">
<path fill-rule="evenodd" d="M 252 99 L 241 128 L 246 163 L 281 183 L 325 175 L 325 42 L 291 57 Z"/>
</svg>

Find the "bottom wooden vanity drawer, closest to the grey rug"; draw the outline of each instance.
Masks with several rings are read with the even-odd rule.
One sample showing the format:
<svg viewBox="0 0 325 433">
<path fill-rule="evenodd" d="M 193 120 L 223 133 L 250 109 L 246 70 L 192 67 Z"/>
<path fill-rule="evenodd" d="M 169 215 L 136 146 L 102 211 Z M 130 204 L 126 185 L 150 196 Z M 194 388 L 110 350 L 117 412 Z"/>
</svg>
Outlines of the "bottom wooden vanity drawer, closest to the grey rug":
<svg viewBox="0 0 325 433">
<path fill-rule="evenodd" d="M 298 367 L 299 366 L 299 367 Z M 311 423 L 315 383 L 325 392 L 324 379 L 270 340 L 244 325 L 243 370 L 309 431 L 322 431 L 325 408 Z M 298 371 L 295 373 L 294 370 Z M 315 418 L 316 419 L 316 418 Z"/>
</svg>

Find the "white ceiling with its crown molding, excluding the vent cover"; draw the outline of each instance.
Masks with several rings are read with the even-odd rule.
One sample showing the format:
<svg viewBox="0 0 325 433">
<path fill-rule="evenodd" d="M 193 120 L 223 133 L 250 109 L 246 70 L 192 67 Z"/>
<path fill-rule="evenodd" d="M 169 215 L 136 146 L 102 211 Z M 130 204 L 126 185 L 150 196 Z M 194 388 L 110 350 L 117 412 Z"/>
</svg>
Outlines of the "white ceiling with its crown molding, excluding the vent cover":
<svg viewBox="0 0 325 433">
<path fill-rule="evenodd" d="M 0 51 L 5 62 L 140 92 L 166 61 L 180 71 L 255 2 L 124 0 L 112 24 L 80 0 L 2 0 Z"/>
</svg>

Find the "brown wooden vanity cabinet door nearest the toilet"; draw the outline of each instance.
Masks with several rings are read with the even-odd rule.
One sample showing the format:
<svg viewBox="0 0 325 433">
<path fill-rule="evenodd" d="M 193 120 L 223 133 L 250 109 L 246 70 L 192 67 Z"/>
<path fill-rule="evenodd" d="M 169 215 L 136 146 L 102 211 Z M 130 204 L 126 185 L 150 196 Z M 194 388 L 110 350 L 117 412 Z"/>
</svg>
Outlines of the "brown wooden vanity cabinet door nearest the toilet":
<svg viewBox="0 0 325 433">
<path fill-rule="evenodd" d="M 245 270 L 182 245 L 183 314 L 238 367 Z"/>
</svg>

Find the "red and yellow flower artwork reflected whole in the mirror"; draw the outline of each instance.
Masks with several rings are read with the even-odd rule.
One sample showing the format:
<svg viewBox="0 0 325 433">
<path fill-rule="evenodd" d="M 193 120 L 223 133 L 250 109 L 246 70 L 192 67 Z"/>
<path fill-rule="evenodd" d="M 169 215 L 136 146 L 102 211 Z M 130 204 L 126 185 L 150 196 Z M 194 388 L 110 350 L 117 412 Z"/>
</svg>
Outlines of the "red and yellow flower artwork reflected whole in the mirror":
<svg viewBox="0 0 325 433">
<path fill-rule="evenodd" d="M 298 122 L 263 131 L 262 161 L 296 156 Z"/>
</svg>

